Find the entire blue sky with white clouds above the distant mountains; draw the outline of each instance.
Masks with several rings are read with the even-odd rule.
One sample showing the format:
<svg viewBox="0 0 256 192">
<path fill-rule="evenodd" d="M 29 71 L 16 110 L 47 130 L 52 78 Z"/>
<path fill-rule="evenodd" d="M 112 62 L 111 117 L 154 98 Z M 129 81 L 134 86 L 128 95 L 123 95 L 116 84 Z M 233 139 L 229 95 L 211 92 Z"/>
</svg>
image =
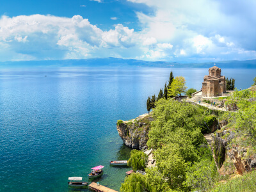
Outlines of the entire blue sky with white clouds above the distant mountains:
<svg viewBox="0 0 256 192">
<path fill-rule="evenodd" d="M 0 0 L 0 61 L 256 59 L 255 0 Z"/>
</svg>

